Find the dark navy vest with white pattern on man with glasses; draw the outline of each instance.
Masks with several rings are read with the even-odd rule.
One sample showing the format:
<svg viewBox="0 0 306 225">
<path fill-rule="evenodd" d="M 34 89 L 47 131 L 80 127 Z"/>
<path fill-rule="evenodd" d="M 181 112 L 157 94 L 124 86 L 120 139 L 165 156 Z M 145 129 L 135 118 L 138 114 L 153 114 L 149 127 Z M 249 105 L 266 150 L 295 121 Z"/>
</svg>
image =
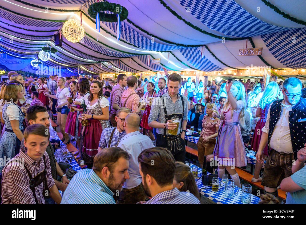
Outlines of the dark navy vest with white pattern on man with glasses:
<svg viewBox="0 0 306 225">
<path fill-rule="evenodd" d="M 268 132 L 268 151 L 270 151 L 270 140 L 274 127 L 282 113 L 282 101 L 276 100 L 270 109 L 270 124 Z M 300 119 L 306 118 L 306 99 L 300 98 L 300 101 L 289 111 L 289 129 L 294 159 L 297 159 L 297 152 L 304 147 L 306 143 L 306 121 L 300 122 Z"/>
</svg>

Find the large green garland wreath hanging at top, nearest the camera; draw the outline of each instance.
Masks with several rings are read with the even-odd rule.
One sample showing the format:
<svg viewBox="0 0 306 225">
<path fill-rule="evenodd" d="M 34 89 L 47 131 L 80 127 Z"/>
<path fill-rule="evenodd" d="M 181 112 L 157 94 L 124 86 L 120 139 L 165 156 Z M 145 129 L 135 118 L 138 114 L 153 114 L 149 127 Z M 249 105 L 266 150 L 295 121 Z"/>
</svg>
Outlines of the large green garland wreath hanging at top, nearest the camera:
<svg viewBox="0 0 306 225">
<path fill-rule="evenodd" d="M 121 9 L 121 12 L 119 13 L 120 20 L 124 21 L 128 18 L 129 11 L 116 3 L 110 3 L 110 2 L 96 2 L 94 4 L 91 4 L 88 8 L 88 15 L 95 19 L 97 13 L 99 12 L 100 21 L 105 22 L 117 22 L 117 9 Z M 104 13 L 104 11 L 110 11 L 112 13 Z"/>
</svg>

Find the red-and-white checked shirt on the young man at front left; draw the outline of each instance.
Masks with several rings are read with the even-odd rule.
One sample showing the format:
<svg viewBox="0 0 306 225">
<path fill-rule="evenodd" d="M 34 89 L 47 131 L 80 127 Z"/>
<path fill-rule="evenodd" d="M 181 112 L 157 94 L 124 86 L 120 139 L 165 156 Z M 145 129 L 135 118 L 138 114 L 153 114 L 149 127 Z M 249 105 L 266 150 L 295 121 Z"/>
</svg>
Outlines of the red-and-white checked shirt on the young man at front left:
<svg viewBox="0 0 306 225">
<path fill-rule="evenodd" d="M 54 179 L 51 175 L 50 160 L 47 152 L 44 153 L 46 158 L 46 182 L 50 189 L 54 184 Z M 2 204 L 36 204 L 32 190 L 30 189 L 30 178 L 25 165 L 30 171 L 32 177 L 41 173 L 45 169 L 43 157 L 39 162 L 30 158 L 22 150 L 9 161 L 2 171 Z M 45 204 L 43 197 L 44 182 L 35 187 L 35 194 L 39 204 Z"/>
</svg>

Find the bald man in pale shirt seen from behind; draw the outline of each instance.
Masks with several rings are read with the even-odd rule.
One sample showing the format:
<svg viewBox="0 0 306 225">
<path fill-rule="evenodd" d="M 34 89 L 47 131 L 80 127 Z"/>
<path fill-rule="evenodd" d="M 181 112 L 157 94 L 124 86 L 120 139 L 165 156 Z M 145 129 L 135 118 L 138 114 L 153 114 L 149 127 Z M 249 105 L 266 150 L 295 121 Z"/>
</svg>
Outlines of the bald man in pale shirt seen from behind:
<svg viewBox="0 0 306 225">
<path fill-rule="evenodd" d="M 147 148 L 153 148 L 151 139 L 139 132 L 140 117 L 136 113 L 130 113 L 125 117 L 124 130 L 126 135 L 121 138 L 118 147 L 129 154 L 129 175 L 119 196 L 116 195 L 117 204 L 136 204 L 145 201 L 146 194 L 142 185 L 137 158 Z"/>
</svg>

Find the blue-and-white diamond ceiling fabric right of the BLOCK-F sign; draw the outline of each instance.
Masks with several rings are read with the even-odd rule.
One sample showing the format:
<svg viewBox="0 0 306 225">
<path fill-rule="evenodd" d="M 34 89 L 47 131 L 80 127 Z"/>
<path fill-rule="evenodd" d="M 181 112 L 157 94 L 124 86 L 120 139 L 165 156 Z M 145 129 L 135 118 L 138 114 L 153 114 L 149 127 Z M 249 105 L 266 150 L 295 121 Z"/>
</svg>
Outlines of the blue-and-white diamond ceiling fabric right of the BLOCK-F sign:
<svg viewBox="0 0 306 225">
<path fill-rule="evenodd" d="M 272 55 L 292 69 L 306 67 L 306 28 L 262 35 Z"/>
</svg>

